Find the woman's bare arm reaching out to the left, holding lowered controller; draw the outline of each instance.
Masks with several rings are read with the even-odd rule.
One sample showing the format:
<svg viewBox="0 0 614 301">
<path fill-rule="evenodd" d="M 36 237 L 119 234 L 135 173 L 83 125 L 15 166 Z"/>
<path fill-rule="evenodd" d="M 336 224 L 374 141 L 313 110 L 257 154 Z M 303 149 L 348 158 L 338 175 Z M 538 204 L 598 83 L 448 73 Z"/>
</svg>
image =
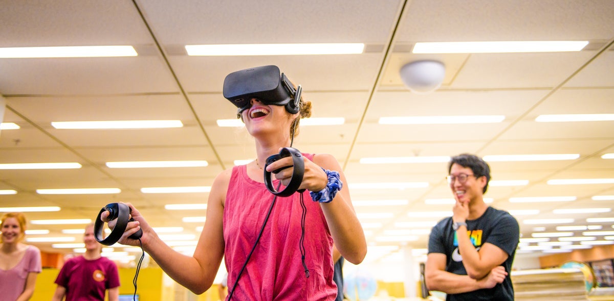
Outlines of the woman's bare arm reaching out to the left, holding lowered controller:
<svg viewBox="0 0 614 301">
<path fill-rule="evenodd" d="M 193 256 L 182 255 L 164 243 L 144 217 L 132 206 L 132 217 L 135 221 L 128 223 L 120 243 L 139 245 L 138 240 L 127 237 L 142 229 L 141 242 L 144 250 L 153 260 L 177 283 L 190 289 L 195 294 L 202 294 L 211 287 L 220 267 L 224 251 L 222 232 L 222 200 L 230 180 L 230 170 L 216 177 L 209 193 L 207 218 L 201 232 L 198 245 Z M 103 214 L 103 220 L 108 214 Z"/>
</svg>

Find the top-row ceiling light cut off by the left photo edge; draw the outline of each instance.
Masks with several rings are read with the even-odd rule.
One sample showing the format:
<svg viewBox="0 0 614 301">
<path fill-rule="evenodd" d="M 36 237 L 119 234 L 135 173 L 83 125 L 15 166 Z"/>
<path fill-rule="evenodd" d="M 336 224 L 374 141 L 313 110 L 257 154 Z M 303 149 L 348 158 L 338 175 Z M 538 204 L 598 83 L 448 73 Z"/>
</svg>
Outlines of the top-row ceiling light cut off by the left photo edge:
<svg viewBox="0 0 614 301">
<path fill-rule="evenodd" d="M 52 46 L 0 48 L 0 58 L 99 58 L 137 56 L 133 46 Z"/>
</svg>

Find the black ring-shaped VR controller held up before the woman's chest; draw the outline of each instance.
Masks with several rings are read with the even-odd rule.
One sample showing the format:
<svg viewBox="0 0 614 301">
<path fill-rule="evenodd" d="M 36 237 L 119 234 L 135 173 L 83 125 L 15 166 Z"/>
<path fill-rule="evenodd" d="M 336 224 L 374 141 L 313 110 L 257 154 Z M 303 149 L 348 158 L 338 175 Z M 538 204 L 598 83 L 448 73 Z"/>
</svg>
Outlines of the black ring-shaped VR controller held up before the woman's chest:
<svg viewBox="0 0 614 301">
<path fill-rule="evenodd" d="M 271 171 L 266 171 L 266 166 L 270 165 L 273 162 L 276 162 L 277 160 L 281 158 L 286 158 L 286 157 L 292 157 L 292 164 L 294 168 L 292 171 L 292 177 L 290 178 L 290 183 L 286 186 L 286 188 L 284 188 L 284 190 L 277 191 L 273 187 L 273 179 L 271 179 Z M 286 168 L 290 168 L 290 166 L 284 166 L 282 168 L 275 169 L 272 173 L 273 174 L 279 173 L 279 171 L 281 171 L 282 169 L 286 169 Z M 305 191 L 305 189 L 298 190 L 298 187 L 301 185 L 301 182 L 303 182 L 303 174 L 305 174 L 305 161 L 303 159 L 303 155 L 301 154 L 301 152 L 298 151 L 298 149 L 295 149 L 293 147 L 282 148 L 279 154 L 271 155 L 270 157 L 266 158 L 264 170 L 265 170 L 264 174 L 265 174 L 266 189 L 271 191 L 273 195 L 291 196 L 293 193 L 297 191 L 298 192 Z"/>
</svg>

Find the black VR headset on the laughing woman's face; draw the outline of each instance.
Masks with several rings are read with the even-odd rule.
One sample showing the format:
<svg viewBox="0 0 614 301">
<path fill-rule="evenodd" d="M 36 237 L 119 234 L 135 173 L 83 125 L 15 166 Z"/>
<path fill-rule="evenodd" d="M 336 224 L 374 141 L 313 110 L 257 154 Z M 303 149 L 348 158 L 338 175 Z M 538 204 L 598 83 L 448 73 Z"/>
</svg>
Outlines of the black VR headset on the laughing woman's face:
<svg viewBox="0 0 614 301">
<path fill-rule="evenodd" d="M 239 70 L 226 76 L 223 95 L 238 108 L 237 117 L 252 106 L 252 98 L 266 105 L 286 106 L 290 114 L 298 113 L 301 86 L 294 89 L 286 75 L 279 73 L 277 66 L 268 65 Z"/>
</svg>

